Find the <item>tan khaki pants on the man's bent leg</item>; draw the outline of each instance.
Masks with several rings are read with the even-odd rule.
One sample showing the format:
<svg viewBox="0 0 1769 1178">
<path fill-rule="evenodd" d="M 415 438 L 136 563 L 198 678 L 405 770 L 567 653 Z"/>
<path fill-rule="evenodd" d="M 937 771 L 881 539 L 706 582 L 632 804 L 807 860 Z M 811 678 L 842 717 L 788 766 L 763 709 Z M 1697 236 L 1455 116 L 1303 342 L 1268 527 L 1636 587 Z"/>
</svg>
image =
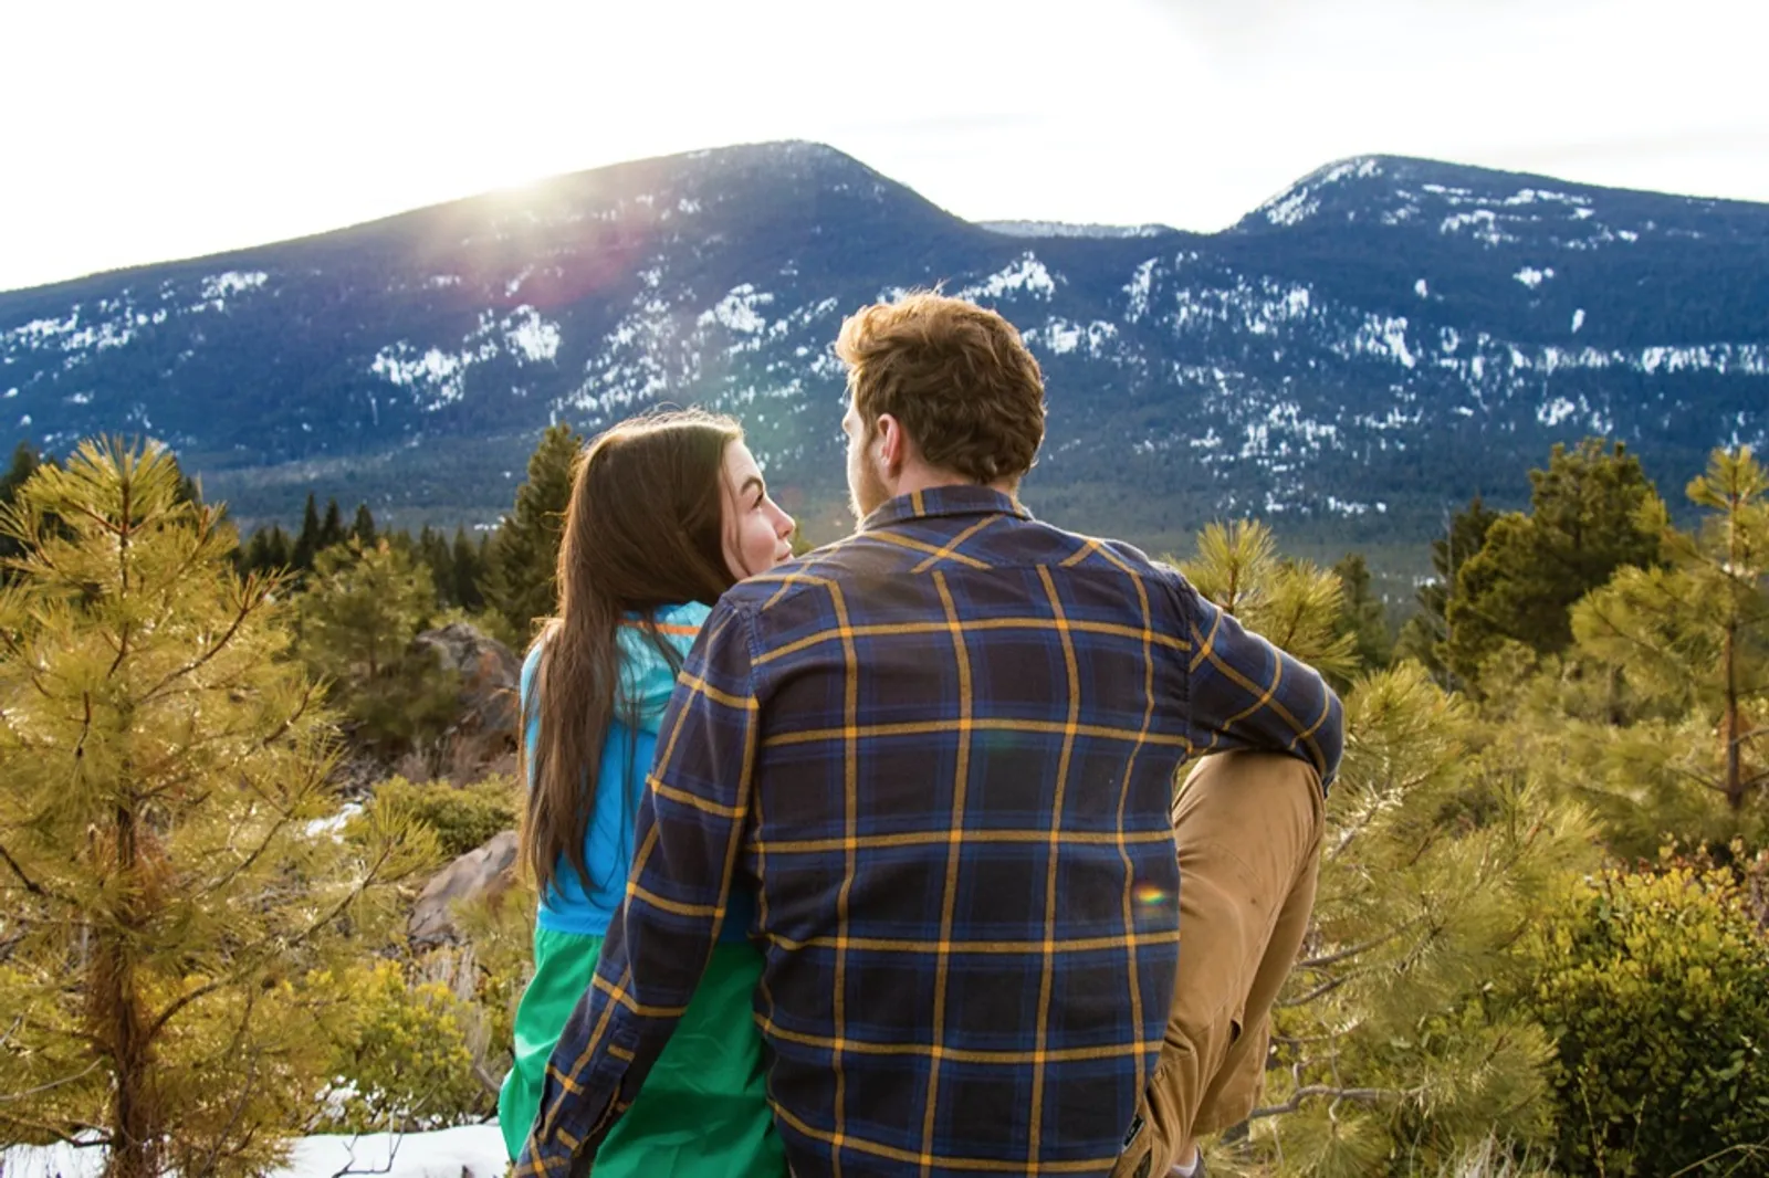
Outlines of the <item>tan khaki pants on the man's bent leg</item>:
<svg viewBox="0 0 1769 1178">
<path fill-rule="evenodd" d="M 1137 1120 L 1113 1178 L 1162 1178 L 1203 1136 L 1252 1113 L 1272 1001 L 1314 907 L 1321 789 L 1277 753 L 1205 757 L 1173 805 L 1180 976 Z"/>
</svg>

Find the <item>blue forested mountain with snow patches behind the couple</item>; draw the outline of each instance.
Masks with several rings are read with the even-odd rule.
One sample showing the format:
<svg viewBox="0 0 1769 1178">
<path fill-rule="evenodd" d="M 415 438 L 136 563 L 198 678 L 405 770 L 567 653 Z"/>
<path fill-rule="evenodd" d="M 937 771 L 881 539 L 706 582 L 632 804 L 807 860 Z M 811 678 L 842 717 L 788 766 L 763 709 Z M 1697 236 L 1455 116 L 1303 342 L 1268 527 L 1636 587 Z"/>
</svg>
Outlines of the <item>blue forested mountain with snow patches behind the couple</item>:
<svg viewBox="0 0 1769 1178">
<path fill-rule="evenodd" d="M 1171 543 L 1219 515 L 1412 541 L 1516 502 L 1555 440 L 1675 497 L 1769 432 L 1769 205 L 1362 157 L 1233 228 L 982 226 L 828 147 L 559 177 L 334 233 L 0 294 L 0 421 L 179 447 L 253 518 L 311 483 L 492 520 L 541 426 L 738 414 L 789 508 L 842 518 L 842 317 L 943 285 L 1045 370 L 1044 516 Z"/>
</svg>

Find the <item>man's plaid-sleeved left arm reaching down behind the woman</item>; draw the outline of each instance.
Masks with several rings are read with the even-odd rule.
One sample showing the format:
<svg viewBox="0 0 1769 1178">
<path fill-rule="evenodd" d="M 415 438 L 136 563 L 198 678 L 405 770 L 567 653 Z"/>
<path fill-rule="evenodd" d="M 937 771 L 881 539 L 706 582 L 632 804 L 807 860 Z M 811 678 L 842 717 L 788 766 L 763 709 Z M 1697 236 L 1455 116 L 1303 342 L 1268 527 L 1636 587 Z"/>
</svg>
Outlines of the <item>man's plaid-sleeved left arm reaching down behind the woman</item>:
<svg viewBox="0 0 1769 1178">
<path fill-rule="evenodd" d="M 547 1063 L 518 1178 L 587 1173 L 693 998 L 718 929 L 755 761 L 750 624 L 718 607 L 658 729 L 626 900 Z"/>
</svg>

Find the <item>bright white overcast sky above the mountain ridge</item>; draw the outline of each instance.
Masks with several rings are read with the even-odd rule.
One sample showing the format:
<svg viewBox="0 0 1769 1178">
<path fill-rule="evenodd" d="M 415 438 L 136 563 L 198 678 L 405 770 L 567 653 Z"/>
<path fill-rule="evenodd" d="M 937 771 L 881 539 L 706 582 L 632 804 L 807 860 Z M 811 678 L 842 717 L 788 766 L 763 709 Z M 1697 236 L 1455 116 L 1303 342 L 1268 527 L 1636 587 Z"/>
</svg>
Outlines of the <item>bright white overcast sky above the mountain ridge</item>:
<svg viewBox="0 0 1769 1178">
<path fill-rule="evenodd" d="M 1214 230 L 1390 152 L 1769 200 L 1760 0 L 12 0 L 0 290 L 724 143 Z"/>
</svg>

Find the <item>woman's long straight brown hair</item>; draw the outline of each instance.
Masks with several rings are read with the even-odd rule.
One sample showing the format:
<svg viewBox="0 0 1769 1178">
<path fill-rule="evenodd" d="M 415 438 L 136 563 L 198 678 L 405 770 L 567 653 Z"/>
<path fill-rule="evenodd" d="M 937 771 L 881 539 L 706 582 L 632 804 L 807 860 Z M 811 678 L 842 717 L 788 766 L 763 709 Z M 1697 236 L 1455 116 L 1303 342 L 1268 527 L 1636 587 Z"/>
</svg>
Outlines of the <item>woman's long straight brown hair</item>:
<svg viewBox="0 0 1769 1178">
<path fill-rule="evenodd" d="M 621 617 L 644 617 L 649 640 L 672 667 L 674 649 L 656 633 L 656 610 L 713 605 L 732 585 L 725 566 L 725 449 L 743 439 L 731 417 L 697 410 L 653 414 L 612 426 L 578 458 L 559 543 L 559 614 L 543 647 L 532 704 L 541 731 L 524 759 L 534 787 L 524 807 L 522 860 L 541 895 L 564 858 L 587 891 L 584 831 L 596 805 L 601 745 L 621 695 Z M 621 716 L 632 720 L 630 715 Z M 624 876 L 624 865 L 621 867 Z"/>
</svg>

